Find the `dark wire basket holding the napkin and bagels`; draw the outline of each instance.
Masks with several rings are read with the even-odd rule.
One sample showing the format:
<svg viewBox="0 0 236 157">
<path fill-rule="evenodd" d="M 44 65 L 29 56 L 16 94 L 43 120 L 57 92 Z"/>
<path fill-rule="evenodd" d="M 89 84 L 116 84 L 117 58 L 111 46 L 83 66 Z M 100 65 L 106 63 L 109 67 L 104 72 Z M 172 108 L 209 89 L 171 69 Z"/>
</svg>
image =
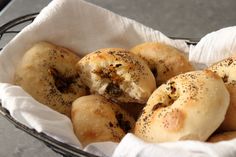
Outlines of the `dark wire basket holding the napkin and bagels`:
<svg viewBox="0 0 236 157">
<path fill-rule="evenodd" d="M 21 16 L 19 18 L 13 19 L 8 23 L 2 25 L 0 27 L 0 51 L 2 47 L 9 42 L 17 33 L 21 31 L 22 28 L 30 24 L 38 15 L 38 13 L 27 14 L 25 16 Z M 184 40 L 188 45 L 195 45 L 198 40 L 190 39 L 190 38 L 177 38 L 177 37 L 170 37 L 172 39 L 180 39 Z M 85 152 L 83 150 L 77 149 L 72 147 L 66 143 L 62 143 L 53 139 L 52 137 L 44 134 L 39 133 L 34 129 L 30 129 L 27 126 L 17 122 L 13 117 L 11 117 L 8 110 L 2 107 L 1 100 L 0 100 L 0 113 L 10 121 L 16 128 L 23 130 L 24 132 L 28 133 L 29 135 L 37 138 L 38 140 L 44 142 L 48 147 L 50 147 L 55 152 L 66 156 L 66 157 L 98 157 L 91 153 Z"/>
</svg>

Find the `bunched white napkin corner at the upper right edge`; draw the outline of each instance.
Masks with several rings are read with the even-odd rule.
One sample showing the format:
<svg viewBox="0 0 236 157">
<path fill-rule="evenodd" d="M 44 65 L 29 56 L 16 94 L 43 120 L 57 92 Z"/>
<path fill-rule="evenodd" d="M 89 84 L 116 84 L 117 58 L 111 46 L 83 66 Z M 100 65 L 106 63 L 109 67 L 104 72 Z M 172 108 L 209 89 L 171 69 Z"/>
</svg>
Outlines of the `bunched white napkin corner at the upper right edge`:
<svg viewBox="0 0 236 157">
<path fill-rule="evenodd" d="M 236 26 L 207 34 L 190 48 L 189 60 L 207 66 L 236 54 Z"/>
</svg>

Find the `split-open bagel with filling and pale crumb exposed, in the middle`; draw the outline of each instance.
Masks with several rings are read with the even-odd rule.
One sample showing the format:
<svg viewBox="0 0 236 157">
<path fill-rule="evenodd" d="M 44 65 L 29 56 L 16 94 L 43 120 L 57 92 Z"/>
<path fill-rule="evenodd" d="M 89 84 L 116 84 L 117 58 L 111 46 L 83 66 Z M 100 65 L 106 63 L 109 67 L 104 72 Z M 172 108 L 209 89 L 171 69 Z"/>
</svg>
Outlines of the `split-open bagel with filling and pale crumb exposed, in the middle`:
<svg viewBox="0 0 236 157">
<path fill-rule="evenodd" d="M 118 102 L 145 104 L 156 88 L 147 64 L 124 49 L 92 52 L 78 62 L 77 69 L 91 93 Z"/>
</svg>

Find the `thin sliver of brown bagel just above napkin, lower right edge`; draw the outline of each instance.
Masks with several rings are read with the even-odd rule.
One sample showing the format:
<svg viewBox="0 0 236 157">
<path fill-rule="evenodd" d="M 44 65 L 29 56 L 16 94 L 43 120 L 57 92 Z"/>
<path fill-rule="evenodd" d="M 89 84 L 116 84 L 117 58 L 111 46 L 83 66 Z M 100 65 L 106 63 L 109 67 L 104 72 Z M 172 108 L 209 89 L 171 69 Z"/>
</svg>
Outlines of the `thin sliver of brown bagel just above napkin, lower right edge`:
<svg viewBox="0 0 236 157">
<path fill-rule="evenodd" d="M 229 132 L 223 132 L 219 134 L 213 134 L 207 142 L 221 142 L 221 141 L 228 141 L 236 138 L 236 131 L 229 131 Z"/>
</svg>

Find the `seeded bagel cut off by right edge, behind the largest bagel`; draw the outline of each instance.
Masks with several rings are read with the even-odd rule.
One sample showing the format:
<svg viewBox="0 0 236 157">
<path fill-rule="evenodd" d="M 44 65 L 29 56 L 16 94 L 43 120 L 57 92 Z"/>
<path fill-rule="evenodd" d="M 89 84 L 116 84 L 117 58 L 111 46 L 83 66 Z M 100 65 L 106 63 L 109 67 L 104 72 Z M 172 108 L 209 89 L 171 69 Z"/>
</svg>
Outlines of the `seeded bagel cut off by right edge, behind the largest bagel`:
<svg viewBox="0 0 236 157">
<path fill-rule="evenodd" d="M 222 78 L 230 94 L 230 105 L 219 130 L 236 130 L 236 57 L 229 57 L 219 61 L 208 69 Z"/>
</svg>

